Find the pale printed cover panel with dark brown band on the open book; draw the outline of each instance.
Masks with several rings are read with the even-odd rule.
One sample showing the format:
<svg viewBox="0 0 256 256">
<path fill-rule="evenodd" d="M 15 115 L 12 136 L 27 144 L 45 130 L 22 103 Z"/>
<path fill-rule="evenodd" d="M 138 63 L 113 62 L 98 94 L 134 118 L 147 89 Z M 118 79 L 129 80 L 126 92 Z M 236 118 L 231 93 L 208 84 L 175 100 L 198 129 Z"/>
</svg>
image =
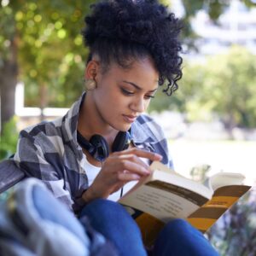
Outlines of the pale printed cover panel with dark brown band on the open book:
<svg viewBox="0 0 256 256">
<path fill-rule="evenodd" d="M 187 218 L 207 201 L 206 197 L 189 189 L 151 181 L 121 198 L 119 203 L 168 222 L 172 218 Z"/>
</svg>

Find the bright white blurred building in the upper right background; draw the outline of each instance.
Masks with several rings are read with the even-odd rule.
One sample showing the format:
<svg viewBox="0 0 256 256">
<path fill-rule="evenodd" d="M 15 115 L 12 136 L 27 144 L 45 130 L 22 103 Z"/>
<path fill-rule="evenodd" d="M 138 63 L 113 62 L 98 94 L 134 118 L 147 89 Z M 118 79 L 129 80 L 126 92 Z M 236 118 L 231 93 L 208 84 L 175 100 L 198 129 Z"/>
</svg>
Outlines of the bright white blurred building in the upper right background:
<svg viewBox="0 0 256 256">
<path fill-rule="evenodd" d="M 224 53 L 231 44 L 245 46 L 256 55 L 256 8 L 249 9 L 242 1 L 231 0 L 216 21 L 201 9 L 192 20 L 192 28 L 200 37 L 195 42 L 199 52 L 191 53 L 194 57 Z"/>
</svg>

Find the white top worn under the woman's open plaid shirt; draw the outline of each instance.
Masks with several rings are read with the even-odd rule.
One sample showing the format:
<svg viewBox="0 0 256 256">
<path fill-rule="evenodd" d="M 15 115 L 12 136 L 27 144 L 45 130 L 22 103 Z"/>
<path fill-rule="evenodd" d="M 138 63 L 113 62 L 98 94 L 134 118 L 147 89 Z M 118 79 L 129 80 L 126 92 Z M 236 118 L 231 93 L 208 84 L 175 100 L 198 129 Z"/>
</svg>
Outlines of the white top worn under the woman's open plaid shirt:
<svg viewBox="0 0 256 256">
<path fill-rule="evenodd" d="M 91 183 L 93 183 L 93 181 L 95 180 L 96 176 L 101 171 L 101 169 L 102 169 L 101 167 L 91 165 L 90 162 L 85 157 L 84 170 L 86 170 L 89 186 L 91 185 Z M 130 183 L 126 183 L 125 186 L 123 187 L 123 195 L 125 195 L 125 193 L 129 191 L 136 183 L 137 181 L 131 181 Z M 108 200 L 118 201 L 120 198 L 120 195 L 121 195 L 121 189 L 114 192 L 112 195 L 109 195 Z"/>
</svg>

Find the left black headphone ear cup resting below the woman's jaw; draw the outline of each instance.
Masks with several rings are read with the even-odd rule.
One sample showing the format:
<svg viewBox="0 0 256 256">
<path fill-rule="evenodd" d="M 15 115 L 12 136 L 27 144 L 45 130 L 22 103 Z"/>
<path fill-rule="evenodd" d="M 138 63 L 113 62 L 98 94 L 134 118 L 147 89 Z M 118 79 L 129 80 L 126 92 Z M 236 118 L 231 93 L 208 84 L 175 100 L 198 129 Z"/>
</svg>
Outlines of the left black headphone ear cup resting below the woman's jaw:
<svg viewBox="0 0 256 256">
<path fill-rule="evenodd" d="M 108 157 L 109 155 L 108 143 L 104 137 L 96 134 L 90 138 L 90 144 L 93 145 L 93 147 L 95 148 L 94 154 L 92 154 L 92 156 L 96 160 L 102 162 Z"/>
</svg>

